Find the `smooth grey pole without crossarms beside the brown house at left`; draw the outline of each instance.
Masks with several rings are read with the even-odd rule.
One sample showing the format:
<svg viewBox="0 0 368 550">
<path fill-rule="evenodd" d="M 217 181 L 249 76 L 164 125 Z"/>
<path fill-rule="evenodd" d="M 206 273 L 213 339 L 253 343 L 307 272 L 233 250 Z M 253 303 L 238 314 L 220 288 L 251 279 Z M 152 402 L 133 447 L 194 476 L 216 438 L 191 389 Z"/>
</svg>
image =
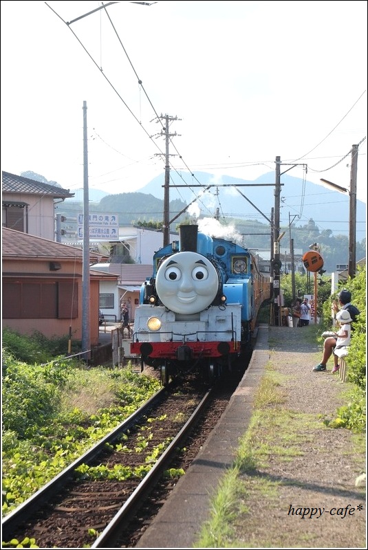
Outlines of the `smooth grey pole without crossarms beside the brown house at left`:
<svg viewBox="0 0 368 550">
<path fill-rule="evenodd" d="M 89 316 L 89 195 L 88 195 L 88 148 L 87 148 L 87 102 L 83 101 L 83 299 L 82 299 L 82 351 L 85 361 L 91 357 L 91 334 Z"/>
</svg>

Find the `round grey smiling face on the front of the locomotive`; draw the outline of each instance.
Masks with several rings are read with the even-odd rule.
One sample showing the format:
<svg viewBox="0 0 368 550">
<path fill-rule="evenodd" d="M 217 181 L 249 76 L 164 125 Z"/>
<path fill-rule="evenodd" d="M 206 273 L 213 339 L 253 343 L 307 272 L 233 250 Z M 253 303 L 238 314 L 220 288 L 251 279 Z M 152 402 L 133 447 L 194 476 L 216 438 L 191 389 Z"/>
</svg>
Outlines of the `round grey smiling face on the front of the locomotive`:
<svg viewBox="0 0 368 550">
<path fill-rule="evenodd" d="M 160 300 L 177 314 L 195 314 L 206 309 L 218 287 L 215 267 L 197 252 L 177 252 L 166 258 L 156 276 Z"/>
</svg>

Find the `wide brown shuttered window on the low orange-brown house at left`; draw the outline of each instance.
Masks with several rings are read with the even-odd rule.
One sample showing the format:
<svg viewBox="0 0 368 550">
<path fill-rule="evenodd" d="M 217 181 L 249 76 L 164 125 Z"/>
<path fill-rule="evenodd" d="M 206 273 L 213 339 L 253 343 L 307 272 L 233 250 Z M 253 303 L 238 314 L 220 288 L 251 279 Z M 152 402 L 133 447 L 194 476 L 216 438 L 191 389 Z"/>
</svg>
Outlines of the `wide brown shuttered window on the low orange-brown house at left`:
<svg viewBox="0 0 368 550">
<path fill-rule="evenodd" d="M 78 285 L 73 283 L 3 283 L 4 319 L 78 317 Z"/>
</svg>

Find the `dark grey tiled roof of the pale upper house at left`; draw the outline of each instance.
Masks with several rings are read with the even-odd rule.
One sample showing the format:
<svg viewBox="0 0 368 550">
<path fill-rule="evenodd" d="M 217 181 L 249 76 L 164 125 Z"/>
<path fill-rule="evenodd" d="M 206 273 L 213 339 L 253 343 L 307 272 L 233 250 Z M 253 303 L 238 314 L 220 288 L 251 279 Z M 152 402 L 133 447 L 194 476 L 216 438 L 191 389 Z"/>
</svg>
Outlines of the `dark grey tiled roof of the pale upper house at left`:
<svg viewBox="0 0 368 550">
<path fill-rule="evenodd" d="M 55 199 L 74 197 L 69 189 L 56 187 L 50 184 L 41 184 L 40 181 L 29 177 L 17 176 L 9 172 L 2 172 L 1 191 L 4 193 L 28 193 L 28 195 L 48 195 Z"/>
</svg>

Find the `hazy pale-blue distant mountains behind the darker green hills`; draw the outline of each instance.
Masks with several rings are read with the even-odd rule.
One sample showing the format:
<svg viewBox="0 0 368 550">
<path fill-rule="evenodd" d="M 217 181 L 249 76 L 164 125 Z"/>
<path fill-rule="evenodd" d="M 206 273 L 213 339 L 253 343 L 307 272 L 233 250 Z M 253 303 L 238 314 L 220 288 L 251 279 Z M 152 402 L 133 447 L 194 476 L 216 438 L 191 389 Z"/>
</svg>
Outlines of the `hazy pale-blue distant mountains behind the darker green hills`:
<svg viewBox="0 0 368 550">
<path fill-rule="evenodd" d="M 274 182 L 274 172 L 265 173 L 255 180 L 247 180 L 228 175 L 215 177 L 206 172 L 192 174 L 171 171 L 169 199 L 177 199 L 187 205 L 192 203 L 188 212 L 195 217 L 235 217 L 268 223 L 274 208 Z M 208 186 L 208 190 L 203 193 Z M 164 199 L 164 173 L 136 192 Z M 103 203 L 102 197 L 107 195 L 111 194 L 102 190 L 89 190 L 90 201 L 102 199 Z M 82 201 L 83 190 L 80 197 L 76 192 L 76 197 L 69 200 Z M 331 230 L 333 234 L 347 236 L 349 196 L 289 174 L 281 175 L 281 228 L 288 227 L 290 223 L 299 227 L 307 224 L 310 219 L 313 219 L 320 231 Z M 366 205 L 357 199 L 356 240 L 362 241 L 365 234 Z"/>
</svg>

